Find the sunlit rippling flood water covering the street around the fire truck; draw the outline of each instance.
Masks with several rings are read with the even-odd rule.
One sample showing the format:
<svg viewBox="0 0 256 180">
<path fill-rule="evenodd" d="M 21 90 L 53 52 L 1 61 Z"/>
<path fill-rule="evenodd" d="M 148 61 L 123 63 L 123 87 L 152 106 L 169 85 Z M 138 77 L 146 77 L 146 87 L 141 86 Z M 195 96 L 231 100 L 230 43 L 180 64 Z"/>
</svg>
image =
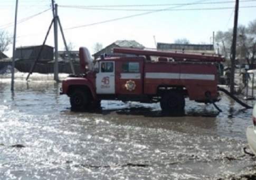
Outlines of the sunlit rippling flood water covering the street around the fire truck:
<svg viewBox="0 0 256 180">
<path fill-rule="evenodd" d="M 11 93 L 0 75 L 0 179 L 217 179 L 255 169 L 243 152 L 252 109 L 225 95 L 222 113 L 187 99 L 182 116 L 115 101 L 71 112 L 52 76 L 16 77 Z"/>
</svg>

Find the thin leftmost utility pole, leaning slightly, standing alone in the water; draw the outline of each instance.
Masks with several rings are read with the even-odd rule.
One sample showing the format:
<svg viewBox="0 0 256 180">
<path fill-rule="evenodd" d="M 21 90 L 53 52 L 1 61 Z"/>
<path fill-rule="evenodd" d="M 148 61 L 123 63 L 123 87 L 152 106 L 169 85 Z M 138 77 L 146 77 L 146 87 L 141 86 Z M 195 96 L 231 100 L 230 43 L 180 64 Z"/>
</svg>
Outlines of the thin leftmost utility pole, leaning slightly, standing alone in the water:
<svg viewBox="0 0 256 180">
<path fill-rule="evenodd" d="M 16 45 L 17 12 L 18 12 L 18 0 L 16 0 L 15 20 L 14 20 L 14 33 L 13 33 L 13 62 L 12 62 L 12 82 L 11 82 L 11 91 L 14 90 L 14 67 L 15 67 L 15 56 L 16 56 L 15 45 Z"/>
</svg>

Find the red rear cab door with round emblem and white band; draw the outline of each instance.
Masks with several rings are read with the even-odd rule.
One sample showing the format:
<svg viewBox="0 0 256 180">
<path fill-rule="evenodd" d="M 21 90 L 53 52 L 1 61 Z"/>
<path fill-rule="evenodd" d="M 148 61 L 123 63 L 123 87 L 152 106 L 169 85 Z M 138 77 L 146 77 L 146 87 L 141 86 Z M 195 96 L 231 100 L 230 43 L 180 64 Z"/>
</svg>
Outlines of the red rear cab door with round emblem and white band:
<svg viewBox="0 0 256 180">
<path fill-rule="evenodd" d="M 117 94 L 143 94 L 143 62 L 129 59 L 118 62 Z"/>
</svg>

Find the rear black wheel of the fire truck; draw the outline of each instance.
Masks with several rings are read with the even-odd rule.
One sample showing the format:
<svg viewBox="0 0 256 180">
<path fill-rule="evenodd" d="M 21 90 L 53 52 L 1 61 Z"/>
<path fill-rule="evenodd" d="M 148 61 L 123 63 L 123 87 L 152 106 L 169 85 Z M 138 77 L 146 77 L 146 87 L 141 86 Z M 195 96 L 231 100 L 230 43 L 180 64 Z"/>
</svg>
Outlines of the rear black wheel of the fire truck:
<svg viewBox="0 0 256 180">
<path fill-rule="evenodd" d="M 182 93 L 170 91 L 162 96 L 160 106 L 163 112 L 181 113 L 184 112 L 185 98 Z"/>
</svg>

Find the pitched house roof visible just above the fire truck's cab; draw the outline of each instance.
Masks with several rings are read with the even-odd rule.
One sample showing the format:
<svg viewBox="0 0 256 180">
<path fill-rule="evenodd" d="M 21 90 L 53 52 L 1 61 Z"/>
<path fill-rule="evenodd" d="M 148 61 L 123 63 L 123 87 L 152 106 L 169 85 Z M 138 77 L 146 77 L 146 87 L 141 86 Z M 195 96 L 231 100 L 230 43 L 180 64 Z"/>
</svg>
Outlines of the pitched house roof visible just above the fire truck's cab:
<svg viewBox="0 0 256 180">
<path fill-rule="evenodd" d="M 93 54 L 92 56 L 94 57 L 94 59 L 99 58 L 103 54 L 107 54 L 108 56 L 117 56 L 118 54 L 113 53 L 113 48 L 115 48 L 115 47 L 126 47 L 126 48 L 136 48 L 136 49 L 144 49 L 145 48 L 143 45 L 139 44 L 138 42 L 136 42 L 134 40 L 131 40 L 131 41 L 119 40 L 119 41 L 116 41 L 116 42 L 108 45 L 107 47 L 101 49 L 100 51 Z"/>
</svg>

